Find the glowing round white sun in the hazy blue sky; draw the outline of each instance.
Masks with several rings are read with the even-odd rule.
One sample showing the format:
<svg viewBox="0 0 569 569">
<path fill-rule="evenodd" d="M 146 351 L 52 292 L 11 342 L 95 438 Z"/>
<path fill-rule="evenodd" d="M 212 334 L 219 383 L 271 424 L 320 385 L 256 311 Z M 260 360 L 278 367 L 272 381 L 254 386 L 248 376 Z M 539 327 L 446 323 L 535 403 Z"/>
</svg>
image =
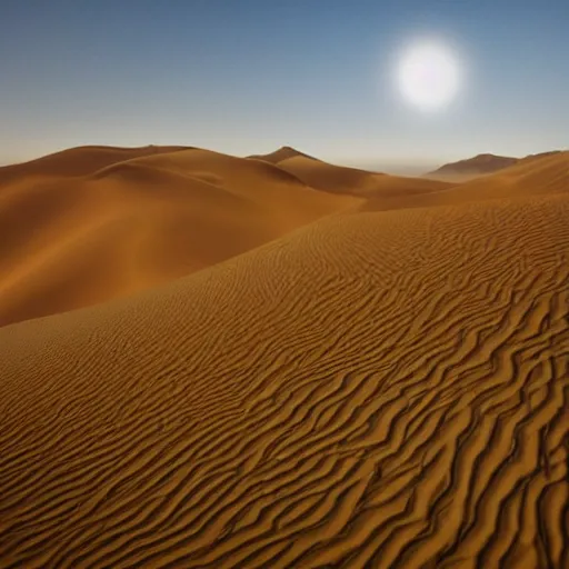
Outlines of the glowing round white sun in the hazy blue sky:
<svg viewBox="0 0 569 569">
<path fill-rule="evenodd" d="M 442 43 L 423 41 L 403 52 L 398 84 L 405 99 L 423 110 L 446 107 L 460 87 L 459 64 Z"/>
</svg>

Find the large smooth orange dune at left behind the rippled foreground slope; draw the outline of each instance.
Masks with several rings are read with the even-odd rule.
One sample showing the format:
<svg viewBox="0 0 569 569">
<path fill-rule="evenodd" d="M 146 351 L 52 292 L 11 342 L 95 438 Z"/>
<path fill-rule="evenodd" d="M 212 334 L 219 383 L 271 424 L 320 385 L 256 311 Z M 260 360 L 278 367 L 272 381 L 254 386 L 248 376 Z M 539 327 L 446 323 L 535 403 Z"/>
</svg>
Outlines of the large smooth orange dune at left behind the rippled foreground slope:
<svg viewBox="0 0 569 569">
<path fill-rule="evenodd" d="M 67 171 L 93 167 L 86 153 Z M 41 178 L 24 170 L 0 192 L 0 326 L 151 288 L 357 203 L 272 164 L 203 150 L 82 177 L 54 177 L 61 160 Z"/>
</svg>

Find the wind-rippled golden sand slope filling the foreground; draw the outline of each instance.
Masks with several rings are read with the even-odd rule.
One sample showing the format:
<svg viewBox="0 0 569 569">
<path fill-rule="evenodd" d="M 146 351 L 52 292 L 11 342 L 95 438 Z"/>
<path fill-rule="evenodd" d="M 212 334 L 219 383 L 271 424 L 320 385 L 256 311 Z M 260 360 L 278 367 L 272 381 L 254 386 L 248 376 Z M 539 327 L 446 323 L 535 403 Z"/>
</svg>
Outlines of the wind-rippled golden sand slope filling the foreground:
<svg viewBox="0 0 569 569">
<path fill-rule="evenodd" d="M 0 565 L 569 567 L 568 220 L 336 216 L 1 329 Z"/>
</svg>

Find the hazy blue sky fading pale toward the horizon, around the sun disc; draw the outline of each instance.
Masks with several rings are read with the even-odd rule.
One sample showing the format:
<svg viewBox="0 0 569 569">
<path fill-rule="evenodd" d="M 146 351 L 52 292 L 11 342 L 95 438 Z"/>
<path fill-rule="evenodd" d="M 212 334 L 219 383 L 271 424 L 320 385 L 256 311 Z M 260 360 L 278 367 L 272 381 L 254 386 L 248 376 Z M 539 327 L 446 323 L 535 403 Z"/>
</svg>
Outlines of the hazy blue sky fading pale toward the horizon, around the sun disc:
<svg viewBox="0 0 569 569">
<path fill-rule="evenodd" d="M 0 163 L 73 146 L 292 146 L 418 170 L 569 147 L 569 1 L 1 0 Z M 402 100 L 396 62 L 450 46 L 443 110 Z"/>
</svg>

